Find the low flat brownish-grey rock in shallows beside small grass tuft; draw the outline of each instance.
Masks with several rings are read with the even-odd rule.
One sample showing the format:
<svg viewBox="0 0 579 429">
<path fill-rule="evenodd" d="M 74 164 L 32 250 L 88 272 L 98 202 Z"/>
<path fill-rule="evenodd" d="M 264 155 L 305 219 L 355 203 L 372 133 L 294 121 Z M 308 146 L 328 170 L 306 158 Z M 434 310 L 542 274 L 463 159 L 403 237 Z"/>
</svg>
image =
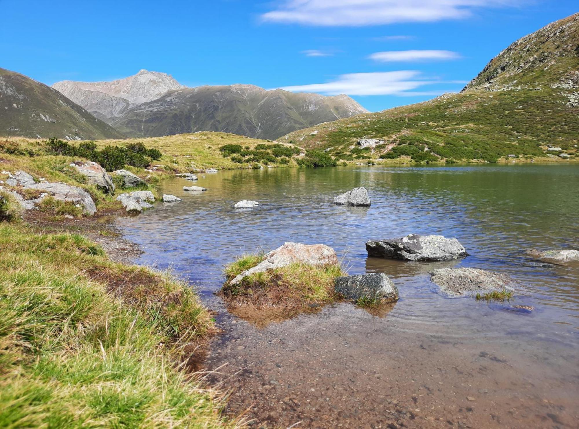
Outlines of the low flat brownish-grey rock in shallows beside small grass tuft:
<svg viewBox="0 0 579 429">
<path fill-rule="evenodd" d="M 473 296 L 477 293 L 514 290 L 518 285 L 509 276 L 477 268 L 440 268 L 430 273 L 431 280 L 449 298 Z"/>
</svg>

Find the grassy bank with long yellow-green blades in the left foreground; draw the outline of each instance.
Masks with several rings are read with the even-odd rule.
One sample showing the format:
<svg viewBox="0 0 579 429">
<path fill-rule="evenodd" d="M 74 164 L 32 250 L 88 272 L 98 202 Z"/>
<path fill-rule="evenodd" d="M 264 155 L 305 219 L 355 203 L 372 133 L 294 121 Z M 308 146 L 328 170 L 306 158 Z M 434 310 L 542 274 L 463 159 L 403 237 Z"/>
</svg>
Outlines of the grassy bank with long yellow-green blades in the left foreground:
<svg viewBox="0 0 579 429">
<path fill-rule="evenodd" d="M 215 331 L 186 284 L 24 223 L 0 248 L 1 427 L 229 426 L 179 371 Z"/>
</svg>

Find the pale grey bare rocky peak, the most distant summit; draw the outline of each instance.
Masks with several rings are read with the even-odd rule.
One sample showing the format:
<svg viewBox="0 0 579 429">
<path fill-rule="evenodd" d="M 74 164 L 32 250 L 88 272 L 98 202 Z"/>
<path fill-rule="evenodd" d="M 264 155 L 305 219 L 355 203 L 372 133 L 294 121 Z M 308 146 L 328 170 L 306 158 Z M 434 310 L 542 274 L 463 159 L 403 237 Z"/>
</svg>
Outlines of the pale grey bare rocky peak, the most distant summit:
<svg viewBox="0 0 579 429">
<path fill-rule="evenodd" d="M 145 69 L 112 82 L 63 80 L 52 87 L 107 122 L 134 105 L 155 100 L 167 91 L 185 88 L 171 75 Z"/>
</svg>

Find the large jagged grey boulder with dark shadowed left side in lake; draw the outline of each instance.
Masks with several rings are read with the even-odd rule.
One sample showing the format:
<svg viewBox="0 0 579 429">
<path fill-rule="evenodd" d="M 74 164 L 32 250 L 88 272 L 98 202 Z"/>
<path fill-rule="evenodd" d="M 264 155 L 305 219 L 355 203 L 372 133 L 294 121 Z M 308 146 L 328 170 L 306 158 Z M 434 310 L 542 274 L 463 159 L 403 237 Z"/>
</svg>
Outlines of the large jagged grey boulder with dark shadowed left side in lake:
<svg viewBox="0 0 579 429">
<path fill-rule="evenodd" d="M 366 250 L 368 256 L 406 261 L 450 261 L 468 256 L 456 238 L 442 235 L 410 234 L 401 238 L 370 240 L 366 243 Z"/>
</svg>

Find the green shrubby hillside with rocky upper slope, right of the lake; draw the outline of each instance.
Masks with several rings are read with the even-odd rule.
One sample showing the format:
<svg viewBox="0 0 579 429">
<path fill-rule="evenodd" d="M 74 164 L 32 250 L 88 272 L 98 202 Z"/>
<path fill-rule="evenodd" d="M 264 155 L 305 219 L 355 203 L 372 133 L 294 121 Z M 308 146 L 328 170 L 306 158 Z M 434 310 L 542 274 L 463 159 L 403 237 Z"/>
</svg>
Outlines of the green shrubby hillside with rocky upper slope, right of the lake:
<svg viewBox="0 0 579 429">
<path fill-rule="evenodd" d="M 320 124 L 278 140 L 358 162 L 559 161 L 560 154 L 577 159 L 578 28 L 575 14 L 518 40 L 460 94 Z M 382 141 L 362 149 L 360 139 Z"/>
</svg>

